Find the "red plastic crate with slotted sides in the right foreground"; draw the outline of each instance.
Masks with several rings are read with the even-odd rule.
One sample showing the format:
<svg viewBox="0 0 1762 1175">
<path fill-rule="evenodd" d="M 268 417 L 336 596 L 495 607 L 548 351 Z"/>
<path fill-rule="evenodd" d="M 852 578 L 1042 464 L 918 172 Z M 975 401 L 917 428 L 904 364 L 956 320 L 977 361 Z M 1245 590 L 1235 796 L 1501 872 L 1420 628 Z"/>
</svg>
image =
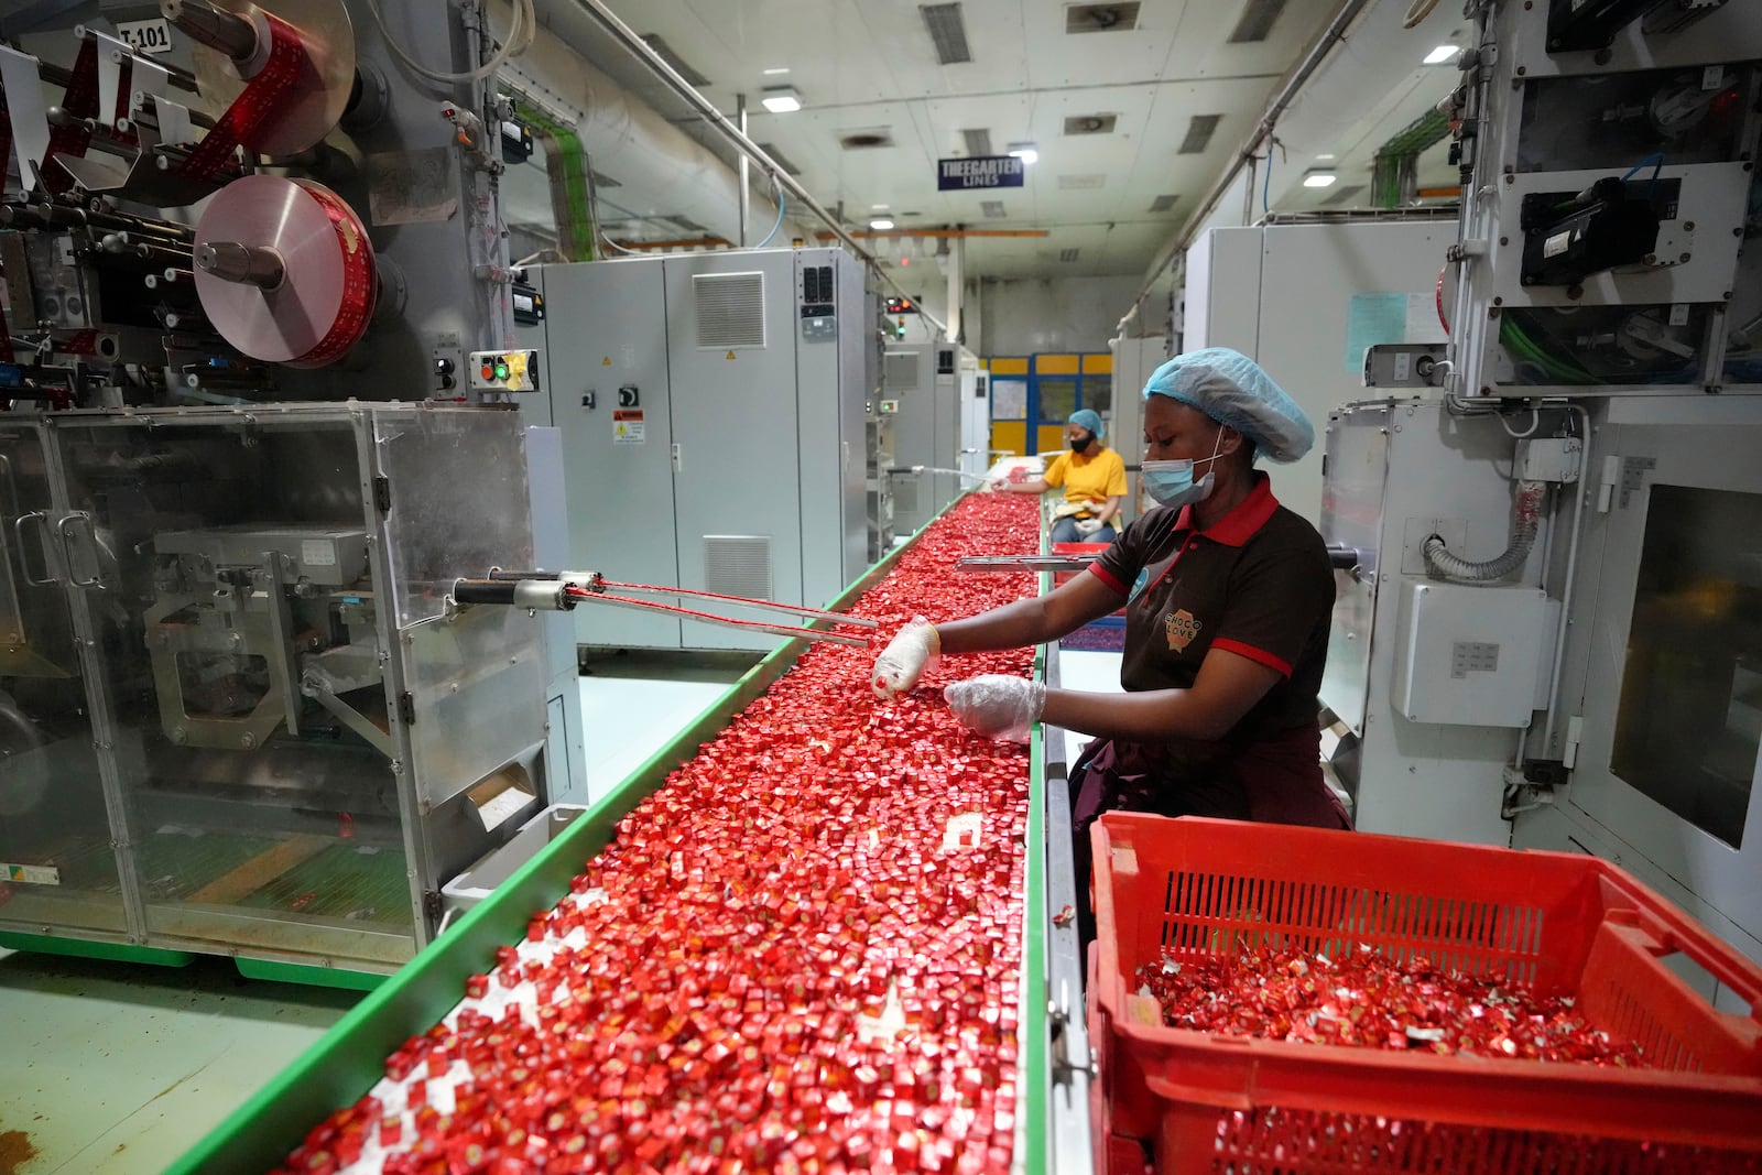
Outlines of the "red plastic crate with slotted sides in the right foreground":
<svg viewBox="0 0 1762 1175">
<path fill-rule="evenodd" d="M 1593 856 L 1210 819 L 1094 826 L 1098 1168 L 1762 1171 L 1762 969 Z M 1133 974 L 1255 946 L 1420 953 L 1568 992 L 1653 1069 L 1170 1029 Z M 1660 960 L 1693 958 L 1750 1015 Z M 1140 1168 L 1142 1170 L 1142 1168 Z"/>
</svg>

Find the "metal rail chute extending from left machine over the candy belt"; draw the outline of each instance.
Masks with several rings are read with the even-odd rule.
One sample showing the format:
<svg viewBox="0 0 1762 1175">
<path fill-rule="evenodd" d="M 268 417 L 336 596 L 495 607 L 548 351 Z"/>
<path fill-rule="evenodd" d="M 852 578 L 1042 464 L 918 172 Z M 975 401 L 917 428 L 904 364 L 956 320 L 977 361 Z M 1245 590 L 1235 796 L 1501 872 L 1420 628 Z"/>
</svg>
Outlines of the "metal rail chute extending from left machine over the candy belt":
<svg viewBox="0 0 1762 1175">
<path fill-rule="evenodd" d="M 735 629 L 752 629 L 756 632 L 793 636 L 807 641 L 832 641 L 833 645 L 851 645 L 856 648 L 869 645 L 863 638 L 846 636 L 842 632 L 772 624 L 766 620 L 737 620 L 735 617 L 719 617 L 694 608 L 680 608 L 678 604 L 638 599 L 641 595 L 714 599 L 733 608 L 749 608 L 759 613 L 777 613 L 807 620 L 828 620 L 832 624 L 848 624 L 860 629 L 881 627 L 877 620 L 863 620 L 862 617 L 851 617 L 842 611 L 803 608 L 800 604 L 779 604 L 768 599 L 722 595 L 719 592 L 700 592 L 682 587 L 618 583 L 615 580 L 608 580 L 597 571 L 502 571 L 500 567 L 492 567 L 486 580 L 458 580 L 453 585 L 453 599 L 460 604 L 513 604 L 516 608 L 573 611 L 576 604 L 597 602 L 615 604 L 618 608 L 641 608 L 645 611 L 664 611 L 689 620 L 701 620 L 703 624 L 722 624 Z"/>
</svg>

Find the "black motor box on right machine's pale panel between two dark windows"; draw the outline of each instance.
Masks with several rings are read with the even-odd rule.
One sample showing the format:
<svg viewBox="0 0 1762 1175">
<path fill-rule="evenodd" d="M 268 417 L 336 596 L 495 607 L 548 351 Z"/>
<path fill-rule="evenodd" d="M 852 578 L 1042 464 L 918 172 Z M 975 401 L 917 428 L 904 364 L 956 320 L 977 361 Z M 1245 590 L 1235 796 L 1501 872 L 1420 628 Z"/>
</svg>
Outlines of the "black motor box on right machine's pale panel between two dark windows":
<svg viewBox="0 0 1762 1175">
<path fill-rule="evenodd" d="M 1677 180 L 1626 183 L 1614 176 L 1584 192 L 1531 192 L 1522 201 L 1524 285 L 1577 285 L 1658 248 L 1660 204 L 1674 215 Z"/>
</svg>

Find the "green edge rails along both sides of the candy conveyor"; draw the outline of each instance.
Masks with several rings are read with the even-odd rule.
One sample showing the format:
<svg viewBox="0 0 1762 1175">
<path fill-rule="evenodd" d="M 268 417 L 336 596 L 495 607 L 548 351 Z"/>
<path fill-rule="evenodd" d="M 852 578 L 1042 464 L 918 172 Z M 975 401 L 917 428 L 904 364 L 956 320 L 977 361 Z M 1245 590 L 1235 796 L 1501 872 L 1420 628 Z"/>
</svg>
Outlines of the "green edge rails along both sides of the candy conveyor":
<svg viewBox="0 0 1762 1175">
<path fill-rule="evenodd" d="M 955 499 L 957 502 L 960 499 Z M 951 509 L 953 504 L 950 504 Z M 946 511 L 943 511 L 946 513 Z M 937 514 L 939 518 L 941 514 Z M 934 521 L 934 520 L 932 520 Z M 929 523 L 925 523 L 929 528 Z M 879 581 L 904 551 L 923 534 L 897 546 L 830 601 L 830 610 L 855 602 Z M 816 622 L 826 624 L 826 622 Z M 384 1076 L 384 1060 L 405 1039 L 425 1032 L 455 1004 L 465 978 L 495 965 L 495 950 L 525 935 L 527 921 L 546 911 L 569 890 L 569 881 L 585 863 L 611 842 L 617 823 L 645 796 L 666 782 L 668 773 L 689 761 L 745 706 L 781 678 L 807 648 L 807 641 L 789 641 L 752 666 L 721 698 L 710 703 L 685 731 L 655 752 L 629 779 L 569 824 L 555 840 L 522 865 L 493 895 L 470 909 L 440 939 L 405 964 L 395 976 L 370 992 L 329 1032 L 298 1060 L 275 1075 L 263 1089 L 217 1126 L 206 1138 L 166 1168 L 166 1175 L 261 1175 L 282 1163 L 305 1134 L 331 1112 L 354 1103 Z M 1040 659 L 1036 659 L 1036 671 Z M 1040 735 L 1034 736 L 1034 794 L 1029 798 L 1029 840 L 1045 837 L 1040 816 Z M 1045 967 L 1045 909 L 1040 877 L 1043 851 L 1029 853 L 1027 909 L 1024 911 L 1024 990 L 1027 976 Z M 1022 1071 L 1027 1083 L 1027 1122 L 1045 1122 L 1045 999 L 1027 992 L 1022 1020 Z M 1027 1129 L 1027 1170 L 1045 1170 L 1045 1138 Z"/>
</svg>

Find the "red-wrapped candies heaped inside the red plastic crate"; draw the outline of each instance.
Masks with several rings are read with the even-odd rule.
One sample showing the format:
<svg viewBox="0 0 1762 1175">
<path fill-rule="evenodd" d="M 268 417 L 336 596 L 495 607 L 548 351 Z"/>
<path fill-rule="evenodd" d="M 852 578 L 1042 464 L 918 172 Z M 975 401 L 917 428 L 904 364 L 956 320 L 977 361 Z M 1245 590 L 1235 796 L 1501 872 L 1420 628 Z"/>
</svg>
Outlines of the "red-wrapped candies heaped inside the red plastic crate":
<svg viewBox="0 0 1762 1175">
<path fill-rule="evenodd" d="M 1369 946 L 1329 958 L 1255 948 L 1165 958 L 1140 967 L 1163 1024 L 1276 1041 L 1417 1048 L 1494 1059 L 1644 1066 L 1573 1009 L 1572 997 L 1438 967 L 1424 955 L 1388 958 Z"/>
</svg>

